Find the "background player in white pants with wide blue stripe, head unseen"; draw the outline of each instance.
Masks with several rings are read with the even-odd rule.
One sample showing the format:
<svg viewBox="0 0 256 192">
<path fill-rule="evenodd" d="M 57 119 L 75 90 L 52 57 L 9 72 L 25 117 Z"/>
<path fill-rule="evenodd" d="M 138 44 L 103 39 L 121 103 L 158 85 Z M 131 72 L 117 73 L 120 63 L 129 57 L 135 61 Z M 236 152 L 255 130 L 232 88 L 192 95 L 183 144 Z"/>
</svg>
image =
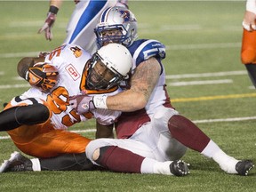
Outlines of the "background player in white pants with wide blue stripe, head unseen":
<svg viewBox="0 0 256 192">
<path fill-rule="evenodd" d="M 44 26 L 38 33 L 44 31 L 46 40 L 52 40 L 52 27 L 56 20 L 57 13 L 62 5 L 62 0 L 50 0 L 50 8 Z M 128 0 L 74 0 L 76 8 L 71 15 L 67 26 L 67 37 L 63 44 L 77 44 L 85 51 L 93 53 L 96 51 L 95 28 L 101 12 L 109 6 L 127 6 Z M 86 36 L 86 38 L 84 38 Z"/>
</svg>

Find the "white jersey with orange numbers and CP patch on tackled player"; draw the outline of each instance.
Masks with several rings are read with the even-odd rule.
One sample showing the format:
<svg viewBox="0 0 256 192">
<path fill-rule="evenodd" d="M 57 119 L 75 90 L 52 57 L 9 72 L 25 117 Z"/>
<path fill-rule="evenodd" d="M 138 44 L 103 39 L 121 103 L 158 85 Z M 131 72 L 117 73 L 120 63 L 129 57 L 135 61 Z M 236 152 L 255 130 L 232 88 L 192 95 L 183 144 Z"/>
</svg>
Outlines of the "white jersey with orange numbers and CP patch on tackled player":
<svg viewBox="0 0 256 192">
<path fill-rule="evenodd" d="M 47 102 L 52 110 L 52 124 L 55 129 L 68 129 L 69 126 L 80 121 L 86 121 L 92 117 L 103 125 L 113 124 L 116 117 L 121 114 L 118 111 L 107 109 L 95 109 L 89 113 L 78 115 L 74 108 L 68 103 L 68 98 L 80 94 L 84 88 L 84 68 L 91 55 L 81 47 L 72 44 L 63 45 L 46 56 L 45 62 L 58 68 L 59 80 L 52 88 L 51 92 L 41 92 L 38 88 L 32 87 L 28 92 L 24 92 L 21 98 L 37 98 Z M 91 91 L 91 93 L 98 91 Z M 108 91 L 106 91 L 108 92 Z M 104 93 L 107 95 L 121 92 L 116 91 Z M 89 92 L 90 93 L 90 92 Z"/>
</svg>

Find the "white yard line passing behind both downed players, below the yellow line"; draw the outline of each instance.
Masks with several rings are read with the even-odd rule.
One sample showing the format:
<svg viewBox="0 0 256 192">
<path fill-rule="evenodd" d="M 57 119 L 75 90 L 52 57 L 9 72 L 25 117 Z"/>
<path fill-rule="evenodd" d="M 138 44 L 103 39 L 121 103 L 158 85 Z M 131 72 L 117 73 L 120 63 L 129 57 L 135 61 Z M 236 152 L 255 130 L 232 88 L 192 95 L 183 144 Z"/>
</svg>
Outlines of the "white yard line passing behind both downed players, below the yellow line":
<svg viewBox="0 0 256 192">
<path fill-rule="evenodd" d="M 234 118 L 222 118 L 222 119 L 203 119 L 203 120 L 195 120 L 194 124 L 207 124 L 207 123 L 216 123 L 216 122 L 239 122 L 239 121 L 250 121 L 255 120 L 256 116 L 244 116 L 244 117 L 234 117 Z M 87 129 L 87 130 L 76 130 L 71 132 L 77 133 L 86 133 L 86 132 L 96 132 L 96 129 Z M 9 136 L 0 136 L 0 140 L 9 140 Z"/>
</svg>

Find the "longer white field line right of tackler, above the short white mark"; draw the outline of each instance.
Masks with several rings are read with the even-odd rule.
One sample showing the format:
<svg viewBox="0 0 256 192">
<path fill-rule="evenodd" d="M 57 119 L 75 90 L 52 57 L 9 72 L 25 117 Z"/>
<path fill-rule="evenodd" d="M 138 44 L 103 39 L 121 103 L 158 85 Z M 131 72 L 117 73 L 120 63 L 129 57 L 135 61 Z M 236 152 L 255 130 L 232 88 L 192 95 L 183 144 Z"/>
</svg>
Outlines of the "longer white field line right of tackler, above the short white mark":
<svg viewBox="0 0 256 192">
<path fill-rule="evenodd" d="M 224 71 L 215 73 L 201 73 L 201 74 L 181 74 L 181 75 L 167 75 L 166 79 L 180 79 L 180 78 L 197 78 L 197 77 L 211 77 L 211 76 L 241 76 L 247 75 L 246 70 L 241 71 Z"/>
</svg>

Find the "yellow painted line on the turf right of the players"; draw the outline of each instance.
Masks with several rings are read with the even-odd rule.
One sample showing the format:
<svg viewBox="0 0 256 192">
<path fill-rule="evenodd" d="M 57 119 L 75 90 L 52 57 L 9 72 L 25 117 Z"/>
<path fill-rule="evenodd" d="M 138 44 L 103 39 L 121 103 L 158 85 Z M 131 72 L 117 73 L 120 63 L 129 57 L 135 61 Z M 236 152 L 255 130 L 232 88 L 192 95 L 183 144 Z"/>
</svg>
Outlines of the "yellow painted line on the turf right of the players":
<svg viewBox="0 0 256 192">
<path fill-rule="evenodd" d="M 171 99 L 172 102 L 188 102 L 188 101 L 200 101 L 200 100 L 225 100 L 225 99 L 236 99 L 236 98 L 248 98 L 256 97 L 256 93 L 244 93 L 244 94 L 229 94 L 229 95 L 215 95 L 197 98 L 177 98 Z"/>
</svg>

